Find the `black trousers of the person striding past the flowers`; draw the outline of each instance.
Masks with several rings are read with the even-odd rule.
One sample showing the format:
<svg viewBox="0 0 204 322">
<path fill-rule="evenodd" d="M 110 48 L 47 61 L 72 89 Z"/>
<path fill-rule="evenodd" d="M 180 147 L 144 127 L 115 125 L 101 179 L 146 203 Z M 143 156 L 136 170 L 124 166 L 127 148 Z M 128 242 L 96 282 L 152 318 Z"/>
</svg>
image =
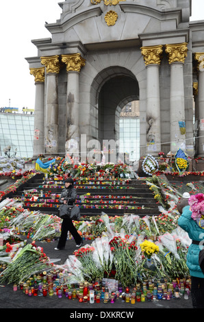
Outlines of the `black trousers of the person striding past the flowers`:
<svg viewBox="0 0 204 322">
<path fill-rule="evenodd" d="M 73 221 L 71 219 L 65 218 L 62 221 L 61 236 L 58 242 L 59 249 L 62 249 L 65 247 L 68 231 L 71 232 L 71 234 L 73 235 L 76 245 L 79 245 L 81 243 L 82 238 L 78 234 L 75 226 L 73 225 Z"/>
</svg>

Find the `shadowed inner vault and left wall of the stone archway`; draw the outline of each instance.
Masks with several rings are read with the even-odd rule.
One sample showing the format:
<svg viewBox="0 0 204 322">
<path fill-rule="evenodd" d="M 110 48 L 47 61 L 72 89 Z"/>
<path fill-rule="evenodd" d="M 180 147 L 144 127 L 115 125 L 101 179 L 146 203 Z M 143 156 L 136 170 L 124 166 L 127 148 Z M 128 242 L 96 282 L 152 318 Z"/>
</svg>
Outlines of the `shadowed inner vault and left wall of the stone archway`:
<svg viewBox="0 0 204 322">
<path fill-rule="evenodd" d="M 97 138 L 101 147 L 107 140 L 116 143 L 120 139 L 120 112 L 127 103 L 139 100 L 135 75 L 120 66 L 104 69 L 94 78 L 90 96 L 90 137 Z"/>
</svg>

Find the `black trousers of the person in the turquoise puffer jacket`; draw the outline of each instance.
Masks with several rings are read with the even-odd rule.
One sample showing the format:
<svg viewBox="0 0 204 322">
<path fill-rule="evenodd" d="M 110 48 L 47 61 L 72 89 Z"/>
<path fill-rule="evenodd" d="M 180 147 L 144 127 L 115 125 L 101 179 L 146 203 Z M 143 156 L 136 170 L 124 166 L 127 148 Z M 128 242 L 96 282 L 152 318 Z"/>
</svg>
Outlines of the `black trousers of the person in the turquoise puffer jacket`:
<svg viewBox="0 0 204 322">
<path fill-rule="evenodd" d="M 193 308 L 204 308 L 204 278 L 191 276 L 190 293 Z"/>
</svg>

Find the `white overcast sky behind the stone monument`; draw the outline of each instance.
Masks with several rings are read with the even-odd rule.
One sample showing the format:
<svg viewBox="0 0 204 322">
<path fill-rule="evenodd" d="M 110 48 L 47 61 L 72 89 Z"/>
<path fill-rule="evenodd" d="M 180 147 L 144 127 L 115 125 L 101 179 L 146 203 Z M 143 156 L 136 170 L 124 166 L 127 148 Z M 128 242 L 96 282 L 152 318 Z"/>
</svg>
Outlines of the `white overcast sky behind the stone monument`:
<svg viewBox="0 0 204 322">
<path fill-rule="evenodd" d="M 25 58 L 37 55 L 31 40 L 51 38 L 44 23 L 55 23 L 60 19 L 60 1 L 0 1 L 0 107 L 10 103 L 13 108 L 34 108 L 34 76 L 29 74 Z M 204 0 L 192 0 L 190 20 L 204 20 Z"/>
</svg>

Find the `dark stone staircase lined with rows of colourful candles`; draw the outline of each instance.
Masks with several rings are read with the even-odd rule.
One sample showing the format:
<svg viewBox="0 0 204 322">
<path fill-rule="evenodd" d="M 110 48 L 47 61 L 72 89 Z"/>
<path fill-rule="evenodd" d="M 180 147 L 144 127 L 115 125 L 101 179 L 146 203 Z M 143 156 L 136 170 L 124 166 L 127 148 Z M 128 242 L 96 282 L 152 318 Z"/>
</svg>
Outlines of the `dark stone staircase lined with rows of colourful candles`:
<svg viewBox="0 0 204 322">
<path fill-rule="evenodd" d="M 39 210 L 42 213 L 57 214 L 58 198 L 64 188 L 62 180 L 44 179 L 38 174 L 29 179 L 12 197 L 24 202 L 24 208 Z M 102 212 L 109 216 L 124 214 L 158 215 L 158 204 L 149 186 L 138 179 L 90 178 L 86 182 L 75 182 L 76 204 L 81 216 L 96 216 Z"/>
</svg>

